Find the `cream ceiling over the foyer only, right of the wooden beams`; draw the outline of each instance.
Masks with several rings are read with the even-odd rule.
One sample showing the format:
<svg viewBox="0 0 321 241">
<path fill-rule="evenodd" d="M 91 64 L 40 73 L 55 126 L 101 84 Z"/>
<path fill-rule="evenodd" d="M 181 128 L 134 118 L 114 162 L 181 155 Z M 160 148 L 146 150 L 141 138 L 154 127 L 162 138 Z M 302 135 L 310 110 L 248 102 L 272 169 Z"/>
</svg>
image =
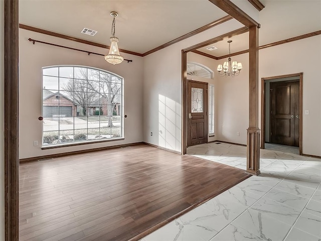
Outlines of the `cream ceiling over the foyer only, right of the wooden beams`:
<svg viewBox="0 0 321 241">
<path fill-rule="evenodd" d="M 259 46 L 297 37 L 321 30 L 321 0 L 265 0 L 265 8 L 259 13 Z M 249 48 L 249 34 L 198 49 L 201 52 L 221 57 L 227 55 L 228 40 L 232 40 L 231 53 Z M 218 49 L 208 51 L 215 46 Z"/>
</svg>

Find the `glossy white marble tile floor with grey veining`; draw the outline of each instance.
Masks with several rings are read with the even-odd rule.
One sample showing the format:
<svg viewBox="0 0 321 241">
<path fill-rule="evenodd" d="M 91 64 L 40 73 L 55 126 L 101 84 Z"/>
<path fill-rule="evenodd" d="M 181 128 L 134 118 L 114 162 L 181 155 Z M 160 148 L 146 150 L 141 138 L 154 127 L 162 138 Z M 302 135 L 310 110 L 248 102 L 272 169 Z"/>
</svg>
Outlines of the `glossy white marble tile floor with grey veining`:
<svg viewBox="0 0 321 241">
<path fill-rule="evenodd" d="M 203 144 L 188 154 L 246 169 L 246 147 Z M 252 176 L 141 241 L 321 241 L 321 159 L 261 150 Z"/>
</svg>

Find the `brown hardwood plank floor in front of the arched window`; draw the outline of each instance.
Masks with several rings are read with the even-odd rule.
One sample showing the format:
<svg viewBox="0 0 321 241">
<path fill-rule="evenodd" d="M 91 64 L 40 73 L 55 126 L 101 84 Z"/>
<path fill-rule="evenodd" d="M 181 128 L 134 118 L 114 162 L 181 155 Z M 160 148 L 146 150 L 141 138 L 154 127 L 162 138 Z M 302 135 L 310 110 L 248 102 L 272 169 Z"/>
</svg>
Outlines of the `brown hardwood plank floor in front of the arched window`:
<svg viewBox="0 0 321 241">
<path fill-rule="evenodd" d="M 148 145 L 22 163 L 19 240 L 137 240 L 249 176 Z"/>
</svg>

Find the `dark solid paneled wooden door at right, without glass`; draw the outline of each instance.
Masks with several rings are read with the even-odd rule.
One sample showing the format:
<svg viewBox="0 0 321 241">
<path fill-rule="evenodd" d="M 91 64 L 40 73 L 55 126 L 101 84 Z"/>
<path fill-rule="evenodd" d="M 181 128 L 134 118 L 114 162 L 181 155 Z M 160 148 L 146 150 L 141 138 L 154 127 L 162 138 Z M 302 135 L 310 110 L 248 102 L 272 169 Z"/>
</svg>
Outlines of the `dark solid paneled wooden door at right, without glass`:
<svg viewBox="0 0 321 241">
<path fill-rule="evenodd" d="M 270 83 L 270 142 L 299 146 L 299 82 Z"/>
</svg>

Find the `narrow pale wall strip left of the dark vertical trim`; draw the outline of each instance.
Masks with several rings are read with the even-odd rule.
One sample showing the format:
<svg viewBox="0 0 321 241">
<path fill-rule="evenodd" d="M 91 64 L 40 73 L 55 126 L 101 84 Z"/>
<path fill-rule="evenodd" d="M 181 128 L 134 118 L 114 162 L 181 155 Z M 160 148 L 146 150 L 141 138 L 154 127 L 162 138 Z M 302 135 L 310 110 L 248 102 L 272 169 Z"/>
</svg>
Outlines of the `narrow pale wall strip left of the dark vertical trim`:
<svg viewBox="0 0 321 241">
<path fill-rule="evenodd" d="M 0 1 L 0 240 L 5 240 L 4 1 Z"/>
</svg>

